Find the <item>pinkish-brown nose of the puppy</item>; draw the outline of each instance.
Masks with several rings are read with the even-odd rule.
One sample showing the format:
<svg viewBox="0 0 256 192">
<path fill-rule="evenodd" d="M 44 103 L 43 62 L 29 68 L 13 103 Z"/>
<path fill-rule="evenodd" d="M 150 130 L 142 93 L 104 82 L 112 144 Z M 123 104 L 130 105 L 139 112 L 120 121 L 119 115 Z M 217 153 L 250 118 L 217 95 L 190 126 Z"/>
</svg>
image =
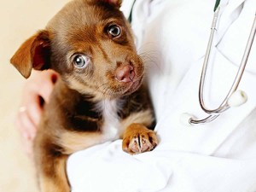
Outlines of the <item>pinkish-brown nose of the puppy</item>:
<svg viewBox="0 0 256 192">
<path fill-rule="evenodd" d="M 119 82 L 128 83 L 135 77 L 134 69 L 131 65 L 120 66 L 115 71 L 115 79 Z"/>
</svg>

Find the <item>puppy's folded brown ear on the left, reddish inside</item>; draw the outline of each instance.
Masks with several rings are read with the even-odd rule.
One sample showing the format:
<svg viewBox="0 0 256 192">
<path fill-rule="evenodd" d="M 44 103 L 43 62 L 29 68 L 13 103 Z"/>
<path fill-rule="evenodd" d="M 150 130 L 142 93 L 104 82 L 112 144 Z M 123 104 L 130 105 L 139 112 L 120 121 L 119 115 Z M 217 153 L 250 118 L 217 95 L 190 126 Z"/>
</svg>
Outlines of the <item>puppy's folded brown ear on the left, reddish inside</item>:
<svg viewBox="0 0 256 192">
<path fill-rule="evenodd" d="M 49 32 L 40 31 L 21 44 L 10 62 L 27 79 L 32 68 L 36 70 L 49 68 L 49 55 Z"/>
</svg>

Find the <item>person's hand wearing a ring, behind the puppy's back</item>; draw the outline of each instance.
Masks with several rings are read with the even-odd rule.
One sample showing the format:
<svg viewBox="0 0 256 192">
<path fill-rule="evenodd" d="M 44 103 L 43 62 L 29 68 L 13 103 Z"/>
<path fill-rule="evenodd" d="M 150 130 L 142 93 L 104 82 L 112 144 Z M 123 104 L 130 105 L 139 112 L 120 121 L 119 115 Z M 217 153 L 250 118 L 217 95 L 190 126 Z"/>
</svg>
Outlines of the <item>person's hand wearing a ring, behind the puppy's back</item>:
<svg viewBox="0 0 256 192">
<path fill-rule="evenodd" d="M 52 70 L 33 71 L 23 90 L 15 126 L 20 131 L 26 154 L 31 157 L 32 143 L 38 130 L 44 103 L 49 102 L 57 77 L 57 73 Z"/>
</svg>

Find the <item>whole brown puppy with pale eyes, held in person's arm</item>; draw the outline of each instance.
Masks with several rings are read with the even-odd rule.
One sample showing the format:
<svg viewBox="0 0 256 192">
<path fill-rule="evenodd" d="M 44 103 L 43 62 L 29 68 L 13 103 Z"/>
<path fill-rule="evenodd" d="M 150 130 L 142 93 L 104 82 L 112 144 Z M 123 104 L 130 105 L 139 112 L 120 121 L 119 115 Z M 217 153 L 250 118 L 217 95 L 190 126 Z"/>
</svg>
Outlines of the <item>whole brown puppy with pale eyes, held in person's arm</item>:
<svg viewBox="0 0 256 192">
<path fill-rule="evenodd" d="M 120 0 L 74 0 L 26 40 L 11 63 L 28 78 L 32 68 L 60 73 L 35 138 L 40 189 L 67 192 L 68 155 L 123 137 L 130 154 L 158 143 L 143 82 L 143 62 Z M 148 127 L 148 128 L 147 128 Z"/>
</svg>

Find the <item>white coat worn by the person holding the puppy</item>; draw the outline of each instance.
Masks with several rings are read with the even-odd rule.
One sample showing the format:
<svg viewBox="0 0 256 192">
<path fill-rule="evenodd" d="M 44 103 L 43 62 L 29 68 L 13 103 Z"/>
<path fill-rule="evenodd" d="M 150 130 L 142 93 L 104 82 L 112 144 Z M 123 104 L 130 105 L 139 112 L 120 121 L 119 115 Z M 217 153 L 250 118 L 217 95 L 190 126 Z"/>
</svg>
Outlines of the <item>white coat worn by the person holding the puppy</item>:
<svg viewBox="0 0 256 192">
<path fill-rule="evenodd" d="M 132 27 L 148 68 L 160 144 L 133 156 L 121 150 L 121 140 L 73 154 L 67 163 L 73 192 L 256 191 L 255 42 L 239 87 L 247 93 L 247 103 L 207 125 L 186 127 L 179 122 L 184 112 L 206 117 L 198 102 L 198 84 L 214 3 L 137 0 Z M 256 1 L 223 1 L 222 8 L 207 78 L 209 108 L 218 107 L 230 89 Z"/>
</svg>

